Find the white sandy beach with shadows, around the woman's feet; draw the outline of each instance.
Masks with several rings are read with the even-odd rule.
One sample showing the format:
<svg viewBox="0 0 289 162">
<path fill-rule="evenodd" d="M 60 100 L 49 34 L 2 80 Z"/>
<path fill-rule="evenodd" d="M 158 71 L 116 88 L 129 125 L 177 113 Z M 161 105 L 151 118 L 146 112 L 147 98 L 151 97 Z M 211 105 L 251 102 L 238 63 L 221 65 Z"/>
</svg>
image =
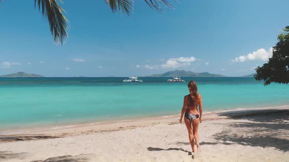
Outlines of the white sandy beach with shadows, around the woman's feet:
<svg viewBox="0 0 289 162">
<path fill-rule="evenodd" d="M 0 162 L 289 162 L 288 108 L 206 114 L 193 155 L 169 116 L 0 136 Z"/>
</svg>

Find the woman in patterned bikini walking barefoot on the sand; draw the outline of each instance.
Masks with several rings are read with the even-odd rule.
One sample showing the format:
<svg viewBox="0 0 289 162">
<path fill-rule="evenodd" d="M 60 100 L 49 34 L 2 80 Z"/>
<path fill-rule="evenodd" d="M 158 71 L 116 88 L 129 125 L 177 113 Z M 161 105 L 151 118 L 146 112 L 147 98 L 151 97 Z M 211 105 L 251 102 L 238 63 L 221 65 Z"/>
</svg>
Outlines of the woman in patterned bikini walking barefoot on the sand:
<svg viewBox="0 0 289 162">
<path fill-rule="evenodd" d="M 190 94 L 184 97 L 184 104 L 181 113 L 180 123 L 182 123 L 185 114 L 185 124 L 189 133 L 189 140 L 194 152 L 194 141 L 197 145 L 197 151 L 200 152 L 200 143 L 198 135 L 199 122 L 202 122 L 202 97 L 198 94 L 197 85 L 194 81 L 188 83 Z M 199 105 L 199 112 L 197 106 Z"/>
</svg>

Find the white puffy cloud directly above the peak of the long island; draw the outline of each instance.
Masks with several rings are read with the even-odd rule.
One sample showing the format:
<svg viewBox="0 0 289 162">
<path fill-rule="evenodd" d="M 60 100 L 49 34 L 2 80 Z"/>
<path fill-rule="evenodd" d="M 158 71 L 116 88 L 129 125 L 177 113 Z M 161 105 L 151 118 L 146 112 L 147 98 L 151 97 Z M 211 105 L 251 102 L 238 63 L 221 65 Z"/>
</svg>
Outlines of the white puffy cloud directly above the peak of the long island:
<svg viewBox="0 0 289 162">
<path fill-rule="evenodd" d="M 182 66 L 189 66 L 191 65 L 191 62 L 196 61 L 194 57 L 190 58 L 172 58 L 169 59 L 165 64 L 162 64 L 161 67 L 163 68 L 176 68 L 176 67 L 182 67 Z"/>
</svg>

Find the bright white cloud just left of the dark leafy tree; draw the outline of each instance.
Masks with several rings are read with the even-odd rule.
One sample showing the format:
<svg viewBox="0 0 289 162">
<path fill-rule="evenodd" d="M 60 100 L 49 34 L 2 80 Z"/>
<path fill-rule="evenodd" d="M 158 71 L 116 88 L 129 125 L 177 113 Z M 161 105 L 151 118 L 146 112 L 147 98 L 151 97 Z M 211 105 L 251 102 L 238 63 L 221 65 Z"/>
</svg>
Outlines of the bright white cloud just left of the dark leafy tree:
<svg viewBox="0 0 289 162">
<path fill-rule="evenodd" d="M 243 55 L 240 57 L 237 57 L 232 62 L 243 62 L 243 61 L 250 61 L 250 60 L 262 60 L 267 61 L 269 58 L 272 57 L 273 48 L 271 47 L 269 51 L 266 51 L 264 48 L 258 49 L 257 51 L 254 51 L 253 53 L 249 53 L 248 55 Z"/>
</svg>

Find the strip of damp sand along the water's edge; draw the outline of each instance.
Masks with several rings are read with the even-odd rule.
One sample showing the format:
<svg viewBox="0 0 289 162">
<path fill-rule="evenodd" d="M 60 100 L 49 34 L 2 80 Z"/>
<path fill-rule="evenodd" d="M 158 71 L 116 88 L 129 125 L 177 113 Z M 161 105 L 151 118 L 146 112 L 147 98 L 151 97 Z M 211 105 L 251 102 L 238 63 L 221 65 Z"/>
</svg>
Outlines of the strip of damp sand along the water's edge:
<svg viewBox="0 0 289 162">
<path fill-rule="evenodd" d="M 228 117 L 222 116 L 222 114 L 240 114 L 240 113 L 256 113 L 257 111 L 268 110 L 286 110 L 289 105 L 278 105 L 278 106 L 268 106 L 268 107 L 254 107 L 254 108 L 237 108 L 232 110 L 217 110 L 208 111 L 203 113 L 204 120 L 219 120 L 219 119 L 229 119 Z M 60 124 L 60 125 L 46 125 L 29 127 L 24 129 L 1 129 L 0 137 L 3 136 L 17 136 L 17 135 L 51 135 L 57 137 L 66 136 L 77 136 L 79 134 L 89 134 L 95 132 L 109 132 L 125 130 L 128 128 L 135 127 L 145 127 L 150 125 L 156 125 L 159 123 L 167 124 L 177 124 L 179 123 L 180 114 L 172 114 L 165 116 L 151 116 L 144 118 L 132 118 L 132 119 L 120 119 L 112 121 L 89 121 L 80 122 L 73 124 Z M 73 133 L 77 130 L 78 133 Z M 81 132 L 81 133 L 79 133 Z"/>
</svg>

